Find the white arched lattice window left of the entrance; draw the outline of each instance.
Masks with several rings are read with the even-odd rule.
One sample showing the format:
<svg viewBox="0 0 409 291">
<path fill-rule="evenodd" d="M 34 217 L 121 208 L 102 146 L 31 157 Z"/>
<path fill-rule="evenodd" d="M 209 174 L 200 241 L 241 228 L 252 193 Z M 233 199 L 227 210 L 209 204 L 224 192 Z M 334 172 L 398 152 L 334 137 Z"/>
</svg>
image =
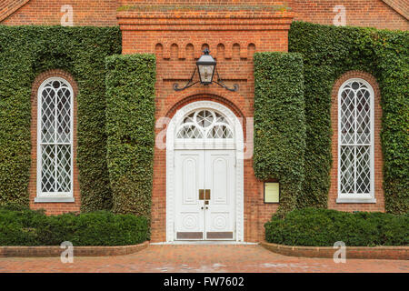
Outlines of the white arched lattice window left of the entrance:
<svg viewBox="0 0 409 291">
<path fill-rule="evenodd" d="M 36 202 L 74 201 L 72 86 L 61 77 L 38 89 Z"/>
</svg>

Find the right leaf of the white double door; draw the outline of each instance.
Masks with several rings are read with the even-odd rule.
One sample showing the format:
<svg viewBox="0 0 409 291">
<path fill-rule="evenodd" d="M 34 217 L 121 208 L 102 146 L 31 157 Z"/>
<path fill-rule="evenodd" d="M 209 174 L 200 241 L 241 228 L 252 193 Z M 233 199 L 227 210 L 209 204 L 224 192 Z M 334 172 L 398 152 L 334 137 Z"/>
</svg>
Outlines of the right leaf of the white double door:
<svg viewBox="0 0 409 291">
<path fill-rule="evenodd" d="M 205 209 L 207 239 L 234 239 L 234 150 L 211 150 L 205 153 L 206 189 L 210 201 Z"/>
</svg>

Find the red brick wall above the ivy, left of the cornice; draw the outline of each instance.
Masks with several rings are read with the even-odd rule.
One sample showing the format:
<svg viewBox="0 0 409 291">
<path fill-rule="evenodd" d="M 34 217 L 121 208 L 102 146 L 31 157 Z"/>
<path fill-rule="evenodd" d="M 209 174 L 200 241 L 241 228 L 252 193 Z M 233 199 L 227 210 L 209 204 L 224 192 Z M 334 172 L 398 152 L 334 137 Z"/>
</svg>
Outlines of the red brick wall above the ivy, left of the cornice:
<svg viewBox="0 0 409 291">
<path fill-rule="evenodd" d="M 74 25 L 116 25 L 116 0 L 30 0 L 4 25 L 60 25 L 63 5 L 73 6 Z M 0 18 L 1 21 L 1 18 Z"/>
</svg>

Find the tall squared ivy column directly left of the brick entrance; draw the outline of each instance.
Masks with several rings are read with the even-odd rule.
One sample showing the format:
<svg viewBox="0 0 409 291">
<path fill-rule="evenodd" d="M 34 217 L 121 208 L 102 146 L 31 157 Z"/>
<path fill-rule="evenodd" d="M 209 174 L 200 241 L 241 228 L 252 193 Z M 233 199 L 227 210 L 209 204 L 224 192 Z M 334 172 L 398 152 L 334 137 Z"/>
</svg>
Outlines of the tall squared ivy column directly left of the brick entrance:
<svg viewBox="0 0 409 291">
<path fill-rule="evenodd" d="M 113 211 L 150 217 L 155 146 L 155 55 L 106 58 L 107 163 Z"/>
</svg>

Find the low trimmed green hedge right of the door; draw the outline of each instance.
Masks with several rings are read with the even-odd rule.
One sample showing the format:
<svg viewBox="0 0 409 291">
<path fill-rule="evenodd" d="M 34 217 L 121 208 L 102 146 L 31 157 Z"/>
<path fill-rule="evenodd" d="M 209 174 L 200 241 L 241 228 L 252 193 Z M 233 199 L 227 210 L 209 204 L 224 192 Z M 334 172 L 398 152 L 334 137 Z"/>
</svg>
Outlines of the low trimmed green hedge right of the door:
<svg viewBox="0 0 409 291">
<path fill-rule="evenodd" d="M 273 216 L 265 225 L 269 243 L 287 246 L 408 246 L 409 216 L 381 212 L 349 213 L 307 207 Z"/>
</svg>

